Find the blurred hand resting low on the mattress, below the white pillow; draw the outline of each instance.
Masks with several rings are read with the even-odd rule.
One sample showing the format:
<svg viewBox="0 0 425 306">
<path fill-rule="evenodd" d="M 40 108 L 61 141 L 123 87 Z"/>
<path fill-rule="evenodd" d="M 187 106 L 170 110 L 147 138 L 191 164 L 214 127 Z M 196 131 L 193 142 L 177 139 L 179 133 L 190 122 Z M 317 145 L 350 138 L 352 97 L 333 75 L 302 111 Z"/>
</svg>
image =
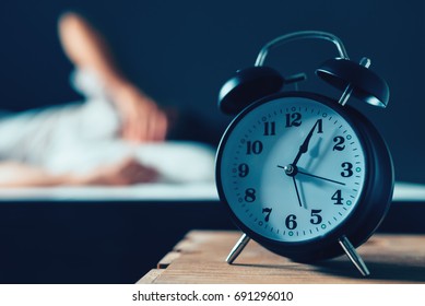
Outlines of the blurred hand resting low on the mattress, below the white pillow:
<svg viewBox="0 0 425 306">
<path fill-rule="evenodd" d="M 88 173 L 81 185 L 126 186 L 141 183 L 153 183 L 158 174 L 155 169 L 140 164 L 130 157 L 118 164 L 102 166 Z"/>
</svg>

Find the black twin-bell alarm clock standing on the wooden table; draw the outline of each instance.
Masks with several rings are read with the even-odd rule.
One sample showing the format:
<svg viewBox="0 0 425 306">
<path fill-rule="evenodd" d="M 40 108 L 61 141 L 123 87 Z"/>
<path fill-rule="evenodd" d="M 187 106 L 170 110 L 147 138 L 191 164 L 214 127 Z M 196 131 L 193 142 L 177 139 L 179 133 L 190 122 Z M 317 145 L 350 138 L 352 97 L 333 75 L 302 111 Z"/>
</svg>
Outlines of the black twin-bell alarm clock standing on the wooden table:
<svg viewBox="0 0 425 306">
<path fill-rule="evenodd" d="M 310 92 L 284 92 L 284 78 L 263 66 L 272 48 L 317 38 L 333 43 L 339 56 L 316 74 L 341 90 L 334 99 Z M 362 114 L 345 105 L 356 97 L 378 107 L 389 99 L 387 83 L 368 69 L 369 59 L 349 59 L 342 42 L 323 32 L 278 37 L 239 70 L 221 92 L 220 109 L 236 115 L 217 151 L 216 185 L 245 233 L 231 251 L 232 263 L 250 238 L 294 261 L 314 262 L 344 252 L 363 275 L 356 252 L 385 217 L 394 185 L 388 148 Z"/>
</svg>

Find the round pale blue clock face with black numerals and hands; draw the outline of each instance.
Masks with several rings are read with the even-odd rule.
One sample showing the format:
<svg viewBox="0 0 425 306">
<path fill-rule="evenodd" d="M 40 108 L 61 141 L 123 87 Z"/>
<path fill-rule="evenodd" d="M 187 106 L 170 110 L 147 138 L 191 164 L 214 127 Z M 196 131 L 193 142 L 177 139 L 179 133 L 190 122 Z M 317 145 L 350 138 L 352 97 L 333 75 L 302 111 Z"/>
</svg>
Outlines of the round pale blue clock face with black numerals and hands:
<svg viewBox="0 0 425 306">
<path fill-rule="evenodd" d="M 356 131 L 338 111 L 310 97 L 278 97 L 228 128 L 217 155 L 219 193 L 256 234 L 308 242 L 355 210 L 365 163 Z"/>
</svg>

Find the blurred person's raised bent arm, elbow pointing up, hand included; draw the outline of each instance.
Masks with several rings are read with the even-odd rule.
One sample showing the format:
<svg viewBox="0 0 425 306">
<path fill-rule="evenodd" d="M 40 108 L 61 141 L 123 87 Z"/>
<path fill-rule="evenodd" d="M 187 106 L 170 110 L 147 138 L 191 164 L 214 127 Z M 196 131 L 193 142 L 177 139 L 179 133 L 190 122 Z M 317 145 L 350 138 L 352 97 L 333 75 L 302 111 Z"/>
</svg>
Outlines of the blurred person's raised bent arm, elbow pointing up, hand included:
<svg viewBox="0 0 425 306">
<path fill-rule="evenodd" d="M 167 117 L 156 103 L 128 81 L 118 69 L 102 35 L 75 13 L 59 19 L 59 37 L 66 55 L 79 68 L 101 78 L 123 119 L 122 137 L 134 142 L 161 141 Z"/>
</svg>

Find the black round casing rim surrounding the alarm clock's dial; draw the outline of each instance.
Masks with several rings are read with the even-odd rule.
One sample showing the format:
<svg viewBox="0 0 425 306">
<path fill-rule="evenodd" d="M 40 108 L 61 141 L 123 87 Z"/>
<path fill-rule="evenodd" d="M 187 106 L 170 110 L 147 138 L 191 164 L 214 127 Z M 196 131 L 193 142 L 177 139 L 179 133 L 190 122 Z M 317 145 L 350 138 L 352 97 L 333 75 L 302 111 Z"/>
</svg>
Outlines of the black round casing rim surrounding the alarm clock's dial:
<svg viewBox="0 0 425 306">
<path fill-rule="evenodd" d="M 335 228 L 323 236 L 305 242 L 279 242 L 264 237 L 244 224 L 227 202 L 221 181 L 221 161 L 224 146 L 234 128 L 246 114 L 268 102 L 282 97 L 304 97 L 323 104 L 337 111 L 354 130 L 365 153 L 365 181 L 353 211 Z M 379 151 L 379 152 L 378 152 Z M 378 156 L 379 155 L 379 156 Z M 382 161 L 381 161 L 382 160 Z M 354 247 L 366 242 L 377 229 L 387 214 L 393 192 L 394 170 L 392 158 L 383 139 L 371 122 L 350 106 L 341 106 L 337 101 L 309 92 L 285 92 L 263 97 L 241 110 L 225 130 L 215 160 L 215 180 L 221 201 L 231 212 L 234 223 L 250 238 L 282 256 L 296 261 L 314 261 L 332 258 L 343 254 L 338 239 L 346 236 Z M 373 170 L 373 167 L 375 169 Z M 383 181 L 379 192 L 374 192 L 376 184 Z M 379 193 L 379 195 L 377 195 Z"/>
</svg>

